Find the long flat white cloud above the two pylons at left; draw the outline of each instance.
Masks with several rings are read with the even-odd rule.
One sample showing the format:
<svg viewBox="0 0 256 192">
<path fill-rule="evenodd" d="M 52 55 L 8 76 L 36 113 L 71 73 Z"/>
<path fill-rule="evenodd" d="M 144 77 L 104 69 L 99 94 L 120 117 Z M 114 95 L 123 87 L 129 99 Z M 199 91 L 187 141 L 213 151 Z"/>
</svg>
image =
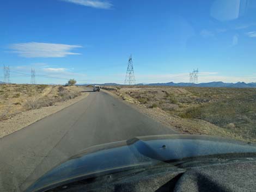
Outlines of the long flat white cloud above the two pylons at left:
<svg viewBox="0 0 256 192">
<path fill-rule="evenodd" d="M 20 57 L 27 58 L 49 58 L 49 57 L 66 57 L 66 55 L 77 55 L 80 53 L 72 53 L 71 49 L 80 48 L 78 45 L 65 44 L 47 44 L 44 42 L 28 42 L 23 44 L 13 44 L 10 46 L 14 49 L 14 53 L 18 53 Z"/>
</svg>

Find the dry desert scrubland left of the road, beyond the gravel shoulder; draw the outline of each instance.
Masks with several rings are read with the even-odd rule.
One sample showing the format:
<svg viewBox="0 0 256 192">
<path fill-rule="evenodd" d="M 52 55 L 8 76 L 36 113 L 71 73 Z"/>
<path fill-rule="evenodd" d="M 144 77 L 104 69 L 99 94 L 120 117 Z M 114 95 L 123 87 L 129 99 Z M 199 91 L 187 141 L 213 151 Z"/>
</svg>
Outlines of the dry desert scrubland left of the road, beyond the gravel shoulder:
<svg viewBox="0 0 256 192">
<path fill-rule="evenodd" d="M 0 120 L 81 95 L 78 86 L 0 84 Z"/>
</svg>

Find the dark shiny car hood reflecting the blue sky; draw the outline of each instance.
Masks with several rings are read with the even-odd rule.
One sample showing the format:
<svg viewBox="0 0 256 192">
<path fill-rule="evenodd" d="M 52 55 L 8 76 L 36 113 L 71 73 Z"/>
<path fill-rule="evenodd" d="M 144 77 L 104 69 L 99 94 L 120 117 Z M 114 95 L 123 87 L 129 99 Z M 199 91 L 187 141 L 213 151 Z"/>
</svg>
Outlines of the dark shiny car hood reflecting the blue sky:
<svg viewBox="0 0 256 192">
<path fill-rule="evenodd" d="M 256 146 L 205 135 L 137 137 L 89 147 L 47 172 L 26 191 L 45 191 L 102 174 L 227 153 L 256 153 Z"/>
</svg>

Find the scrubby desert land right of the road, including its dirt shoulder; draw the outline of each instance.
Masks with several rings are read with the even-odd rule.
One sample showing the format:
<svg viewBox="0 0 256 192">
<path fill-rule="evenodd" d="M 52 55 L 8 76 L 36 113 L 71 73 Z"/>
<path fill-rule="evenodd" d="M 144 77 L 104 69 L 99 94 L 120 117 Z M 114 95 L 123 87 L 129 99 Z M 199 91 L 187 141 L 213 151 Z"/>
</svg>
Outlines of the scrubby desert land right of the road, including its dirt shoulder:
<svg viewBox="0 0 256 192">
<path fill-rule="evenodd" d="M 105 86 L 144 113 L 189 134 L 255 141 L 256 89 Z"/>
</svg>

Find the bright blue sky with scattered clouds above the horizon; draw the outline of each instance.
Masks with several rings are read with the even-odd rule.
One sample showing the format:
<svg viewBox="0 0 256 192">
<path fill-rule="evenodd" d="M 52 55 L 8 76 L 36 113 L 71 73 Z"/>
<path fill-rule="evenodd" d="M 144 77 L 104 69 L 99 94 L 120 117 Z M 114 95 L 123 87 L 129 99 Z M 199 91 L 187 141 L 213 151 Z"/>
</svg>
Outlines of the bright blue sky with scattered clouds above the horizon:
<svg viewBox="0 0 256 192">
<path fill-rule="evenodd" d="M 0 5 L 0 81 L 256 82 L 254 0 L 10 0 Z"/>
</svg>

